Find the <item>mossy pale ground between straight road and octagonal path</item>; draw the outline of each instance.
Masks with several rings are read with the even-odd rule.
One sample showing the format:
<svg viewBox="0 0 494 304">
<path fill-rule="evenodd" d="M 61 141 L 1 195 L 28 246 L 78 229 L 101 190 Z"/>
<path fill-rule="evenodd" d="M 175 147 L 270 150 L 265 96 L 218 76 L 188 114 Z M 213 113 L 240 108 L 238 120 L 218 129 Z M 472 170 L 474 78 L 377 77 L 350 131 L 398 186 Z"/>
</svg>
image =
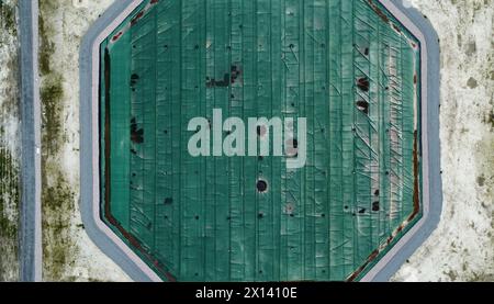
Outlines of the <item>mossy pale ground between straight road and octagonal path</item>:
<svg viewBox="0 0 494 304">
<path fill-rule="evenodd" d="M 81 38 L 111 0 L 41 0 L 45 281 L 128 281 L 87 236 L 79 212 Z"/>
</svg>

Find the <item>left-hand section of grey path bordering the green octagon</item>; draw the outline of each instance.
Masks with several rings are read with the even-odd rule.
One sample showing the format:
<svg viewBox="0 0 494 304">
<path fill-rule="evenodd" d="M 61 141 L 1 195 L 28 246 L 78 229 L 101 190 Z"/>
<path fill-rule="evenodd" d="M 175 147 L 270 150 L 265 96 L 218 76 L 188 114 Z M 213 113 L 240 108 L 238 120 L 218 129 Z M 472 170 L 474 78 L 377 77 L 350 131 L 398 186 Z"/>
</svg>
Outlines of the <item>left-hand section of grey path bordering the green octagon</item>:
<svg viewBox="0 0 494 304">
<path fill-rule="evenodd" d="M 134 281 L 160 281 L 158 275 L 143 262 L 122 240 L 100 219 L 99 171 L 94 167 L 94 149 L 99 146 L 98 116 L 93 116 L 93 101 L 98 102 L 99 56 L 93 57 L 94 47 L 101 43 L 100 33 L 116 26 L 128 15 L 141 0 L 119 0 L 91 26 L 81 44 L 80 67 L 80 164 L 81 164 L 81 213 L 86 232 L 91 240 Z M 120 21 L 119 21 L 120 20 Z M 110 35 L 108 33 L 106 35 Z M 98 48 L 96 49 L 98 50 Z M 99 54 L 96 52 L 96 54 Z M 93 79 L 96 82 L 93 83 Z M 96 87 L 93 87 L 96 86 Z M 96 93 L 96 95 L 94 95 Z M 98 106 L 98 105 L 96 105 Z M 96 131 L 96 132 L 94 132 Z M 97 164 L 99 160 L 97 161 Z"/>
</svg>

